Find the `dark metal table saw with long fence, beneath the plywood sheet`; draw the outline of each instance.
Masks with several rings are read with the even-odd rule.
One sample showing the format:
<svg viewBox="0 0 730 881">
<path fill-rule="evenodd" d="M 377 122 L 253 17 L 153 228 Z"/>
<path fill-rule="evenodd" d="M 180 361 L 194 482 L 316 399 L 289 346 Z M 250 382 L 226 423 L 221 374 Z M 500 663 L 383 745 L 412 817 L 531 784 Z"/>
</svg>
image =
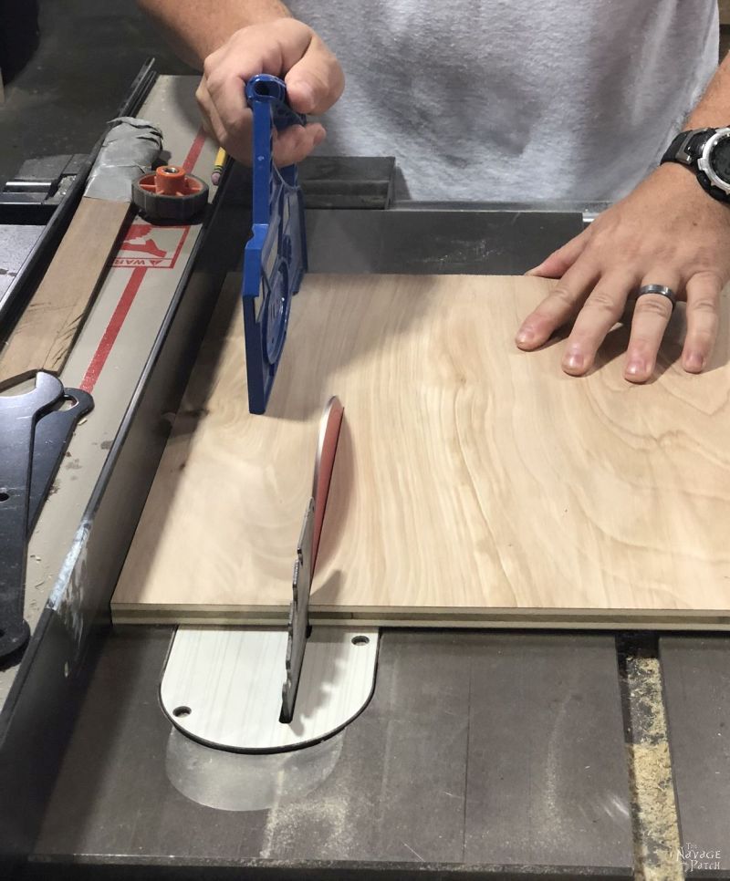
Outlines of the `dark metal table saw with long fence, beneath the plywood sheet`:
<svg viewBox="0 0 730 881">
<path fill-rule="evenodd" d="M 148 65 L 120 115 L 150 119 L 209 181 L 194 88 Z M 5 327 L 85 169 L 37 162 L 3 193 Z M 391 160 L 300 172 L 318 273 L 522 274 L 601 207 L 393 204 Z M 730 876 L 724 634 L 382 627 L 371 695 L 324 740 L 245 754 L 165 715 L 176 628 L 111 627 L 110 598 L 215 298 L 240 271 L 246 173 L 228 168 L 202 223 L 131 223 L 63 368 L 94 410 L 28 542 L 30 641 L 0 667 L 3 876 Z"/>
</svg>

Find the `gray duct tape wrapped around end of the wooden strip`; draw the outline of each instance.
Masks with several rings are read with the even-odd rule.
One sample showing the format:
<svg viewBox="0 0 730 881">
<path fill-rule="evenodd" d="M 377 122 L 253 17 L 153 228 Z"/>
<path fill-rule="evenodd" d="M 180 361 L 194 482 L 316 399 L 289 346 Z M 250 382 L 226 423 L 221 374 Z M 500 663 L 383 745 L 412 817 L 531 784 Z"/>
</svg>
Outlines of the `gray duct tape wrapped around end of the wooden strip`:
<svg viewBox="0 0 730 881">
<path fill-rule="evenodd" d="M 130 202 L 131 184 L 147 171 L 162 150 L 162 131 L 144 119 L 110 120 L 97 161 L 89 173 L 85 196 Z"/>
</svg>

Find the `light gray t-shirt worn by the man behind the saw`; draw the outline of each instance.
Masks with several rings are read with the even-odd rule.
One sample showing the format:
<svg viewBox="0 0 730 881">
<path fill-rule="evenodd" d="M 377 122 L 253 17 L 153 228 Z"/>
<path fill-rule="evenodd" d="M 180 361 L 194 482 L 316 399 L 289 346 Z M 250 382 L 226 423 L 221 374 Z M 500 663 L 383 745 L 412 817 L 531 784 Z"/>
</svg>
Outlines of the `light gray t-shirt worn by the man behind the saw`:
<svg viewBox="0 0 730 881">
<path fill-rule="evenodd" d="M 613 200 L 717 65 L 715 0 L 293 0 L 347 86 L 320 152 L 419 200 Z M 727 120 L 730 123 L 730 119 Z"/>
</svg>

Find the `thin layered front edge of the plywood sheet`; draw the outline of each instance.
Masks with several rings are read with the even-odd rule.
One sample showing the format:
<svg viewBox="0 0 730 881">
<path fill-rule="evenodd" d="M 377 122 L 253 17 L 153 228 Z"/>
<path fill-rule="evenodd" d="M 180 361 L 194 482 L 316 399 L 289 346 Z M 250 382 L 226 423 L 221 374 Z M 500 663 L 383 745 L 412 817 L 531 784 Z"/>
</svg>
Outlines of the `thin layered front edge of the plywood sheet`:
<svg viewBox="0 0 730 881">
<path fill-rule="evenodd" d="M 285 627 L 282 606 L 112 606 L 114 624 L 179 624 L 186 627 Z M 409 611 L 411 614 L 408 614 Z M 718 609 L 540 609 L 339 606 L 310 608 L 313 623 L 342 627 L 449 627 L 464 629 L 729 630 L 730 610 Z"/>
</svg>

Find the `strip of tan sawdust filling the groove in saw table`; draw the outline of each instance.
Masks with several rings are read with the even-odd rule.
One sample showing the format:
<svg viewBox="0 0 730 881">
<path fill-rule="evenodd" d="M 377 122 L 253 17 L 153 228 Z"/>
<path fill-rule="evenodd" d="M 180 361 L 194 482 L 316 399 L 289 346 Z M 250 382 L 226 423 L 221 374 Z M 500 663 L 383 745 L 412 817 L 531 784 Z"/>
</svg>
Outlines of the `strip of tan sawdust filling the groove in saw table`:
<svg viewBox="0 0 730 881">
<path fill-rule="evenodd" d="M 658 658 L 627 658 L 633 743 L 627 744 L 637 881 L 683 881 L 672 760 Z"/>
</svg>

